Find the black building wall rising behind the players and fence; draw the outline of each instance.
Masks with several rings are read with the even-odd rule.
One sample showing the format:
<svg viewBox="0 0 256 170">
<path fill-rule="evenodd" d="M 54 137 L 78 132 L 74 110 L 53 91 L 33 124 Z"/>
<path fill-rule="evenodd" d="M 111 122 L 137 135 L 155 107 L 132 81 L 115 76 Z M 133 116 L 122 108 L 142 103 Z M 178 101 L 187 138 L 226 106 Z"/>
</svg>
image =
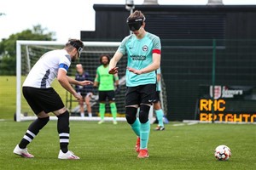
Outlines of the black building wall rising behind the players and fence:
<svg viewBox="0 0 256 170">
<path fill-rule="evenodd" d="M 96 31 L 83 41 L 121 41 L 129 34 L 125 5 L 94 5 Z M 212 83 L 212 39 L 217 39 L 216 84 L 255 85 L 256 6 L 136 6 L 146 30 L 162 41 L 168 118 L 195 118 L 201 84 Z"/>
</svg>

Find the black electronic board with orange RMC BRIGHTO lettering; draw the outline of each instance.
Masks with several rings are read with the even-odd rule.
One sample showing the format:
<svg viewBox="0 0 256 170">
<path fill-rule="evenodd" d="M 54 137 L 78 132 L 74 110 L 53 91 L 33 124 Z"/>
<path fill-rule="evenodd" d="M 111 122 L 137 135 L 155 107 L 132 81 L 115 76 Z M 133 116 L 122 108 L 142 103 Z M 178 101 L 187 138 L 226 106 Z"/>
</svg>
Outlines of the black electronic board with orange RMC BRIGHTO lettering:
<svg viewBox="0 0 256 170">
<path fill-rule="evenodd" d="M 197 107 L 201 122 L 256 122 L 256 87 L 201 85 Z"/>
</svg>

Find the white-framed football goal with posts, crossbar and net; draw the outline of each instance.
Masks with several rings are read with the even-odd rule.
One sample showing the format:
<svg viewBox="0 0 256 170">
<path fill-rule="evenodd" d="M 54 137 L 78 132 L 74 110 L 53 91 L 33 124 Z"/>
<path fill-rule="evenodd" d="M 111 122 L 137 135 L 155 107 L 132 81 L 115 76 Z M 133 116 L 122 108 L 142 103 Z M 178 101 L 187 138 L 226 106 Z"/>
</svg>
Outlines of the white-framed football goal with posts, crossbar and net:
<svg viewBox="0 0 256 170">
<path fill-rule="evenodd" d="M 36 118 L 30 106 L 26 103 L 22 95 L 22 84 L 26 79 L 27 74 L 32 69 L 32 66 L 38 61 L 38 59 L 49 50 L 61 49 L 64 48 L 66 42 L 46 42 L 46 41 L 17 41 L 17 84 L 16 84 L 16 121 L 26 121 L 33 120 Z M 82 64 L 84 71 L 87 71 L 90 75 L 90 80 L 94 80 L 96 77 L 96 68 L 100 64 L 100 56 L 102 54 L 108 54 L 113 56 L 117 48 L 119 47 L 119 42 L 84 42 L 84 50 L 81 54 L 79 60 L 73 62 L 68 69 L 67 75 L 69 77 L 75 77 L 76 68 L 75 65 Z M 119 67 L 119 87 L 120 93 L 115 95 L 118 117 L 117 121 L 125 121 L 125 69 L 127 63 L 127 56 L 123 56 L 118 63 Z M 162 79 L 163 82 L 163 79 Z M 164 82 L 162 83 L 162 88 L 165 89 Z M 90 105 L 92 109 L 93 116 L 81 117 L 79 113 L 79 102 L 73 98 L 72 94 L 69 94 L 64 88 L 61 88 L 61 85 L 58 81 L 52 83 L 52 87 L 55 88 L 55 91 L 60 94 L 61 99 L 69 112 L 71 113 L 70 120 L 88 120 L 88 121 L 99 121 L 100 117 L 98 116 L 99 104 L 97 102 L 97 94 L 93 95 L 93 98 L 90 100 Z M 163 91 L 162 94 L 165 94 Z M 166 98 L 165 95 L 162 96 L 161 104 L 165 108 Z M 165 109 L 166 110 L 166 109 Z M 84 105 L 84 113 L 86 115 L 87 108 Z M 152 117 L 152 111 L 151 111 Z M 50 119 L 55 120 L 56 117 L 51 114 Z M 112 116 L 110 112 L 110 107 L 106 105 L 106 121 L 112 121 Z"/>
</svg>

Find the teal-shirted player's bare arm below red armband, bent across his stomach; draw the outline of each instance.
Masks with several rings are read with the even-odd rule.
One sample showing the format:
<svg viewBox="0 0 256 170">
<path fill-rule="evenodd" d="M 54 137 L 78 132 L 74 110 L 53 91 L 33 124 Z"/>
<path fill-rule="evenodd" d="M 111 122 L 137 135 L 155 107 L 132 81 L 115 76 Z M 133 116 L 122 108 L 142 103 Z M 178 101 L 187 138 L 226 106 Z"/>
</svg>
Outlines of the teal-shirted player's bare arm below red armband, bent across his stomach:
<svg viewBox="0 0 256 170">
<path fill-rule="evenodd" d="M 160 54 L 154 53 L 153 54 L 153 63 L 151 65 L 148 65 L 147 67 L 143 68 L 142 70 L 136 70 L 136 69 L 131 68 L 131 67 L 127 67 L 127 70 L 131 71 L 131 72 L 133 72 L 134 74 L 137 74 L 137 75 L 140 75 L 140 74 L 143 74 L 143 73 L 148 73 L 148 72 L 151 72 L 151 71 L 155 71 L 160 67 L 160 57 L 161 57 Z"/>
</svg>

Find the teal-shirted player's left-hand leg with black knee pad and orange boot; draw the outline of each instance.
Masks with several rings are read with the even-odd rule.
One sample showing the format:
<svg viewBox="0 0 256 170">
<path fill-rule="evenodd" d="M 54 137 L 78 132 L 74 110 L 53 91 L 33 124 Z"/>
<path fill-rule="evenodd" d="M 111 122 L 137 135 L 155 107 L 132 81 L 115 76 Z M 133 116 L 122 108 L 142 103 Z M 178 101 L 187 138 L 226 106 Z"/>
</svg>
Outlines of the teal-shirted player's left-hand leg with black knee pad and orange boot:
<svg viewBox="0 0 256 170">
<path fill-rule="evenodd" d="M 125 118 L 126 121 L 131 125 L 131 129 L 137 135 L 137 142 L 135 149 L 137 152 L 140 150 L 140 128 L 141 123 L 137 118 L 137 108 L 139 103 L 138 94 L 136 92 L 137 88 L 127 88 L 125 94 Z"/>
</svg>

